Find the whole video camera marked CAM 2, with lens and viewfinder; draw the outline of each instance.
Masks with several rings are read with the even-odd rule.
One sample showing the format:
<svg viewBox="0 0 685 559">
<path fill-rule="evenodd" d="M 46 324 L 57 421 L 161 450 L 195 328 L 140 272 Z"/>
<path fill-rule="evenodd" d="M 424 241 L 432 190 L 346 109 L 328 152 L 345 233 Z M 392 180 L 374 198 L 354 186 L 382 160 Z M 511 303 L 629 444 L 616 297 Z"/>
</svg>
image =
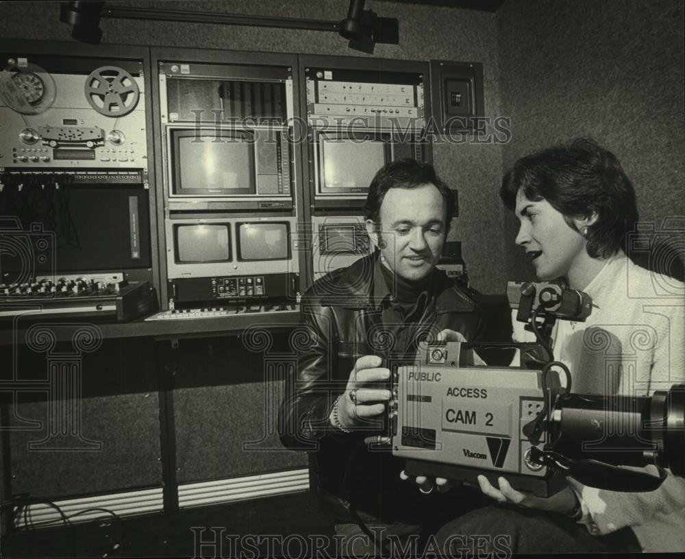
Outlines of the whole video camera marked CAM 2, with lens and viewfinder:
<svg viewBox="0 0 685 559">
<path fill-rule="evenodd" d="M 390 443 L 406 472 L 471 482 L 482 474 L 495 485 L 503 475 L 539 497 L 558 492 L 565 475 L 619 491 L 657 488 L 666 467 L 684 476 L 685 386 L 651 397 L 571 393 L 549 334 L 556 319 L 584 321 L 592 300 L 543 283 L 510 283 L 508 295 L 538 340 L 507 345 L 519 347 L 521 366 L 476 366 L 473 350 L 492 345 L 436 342 L 393 374 Z M 658 475 L 617 467 L 647 464 Z"/>
</svg>

